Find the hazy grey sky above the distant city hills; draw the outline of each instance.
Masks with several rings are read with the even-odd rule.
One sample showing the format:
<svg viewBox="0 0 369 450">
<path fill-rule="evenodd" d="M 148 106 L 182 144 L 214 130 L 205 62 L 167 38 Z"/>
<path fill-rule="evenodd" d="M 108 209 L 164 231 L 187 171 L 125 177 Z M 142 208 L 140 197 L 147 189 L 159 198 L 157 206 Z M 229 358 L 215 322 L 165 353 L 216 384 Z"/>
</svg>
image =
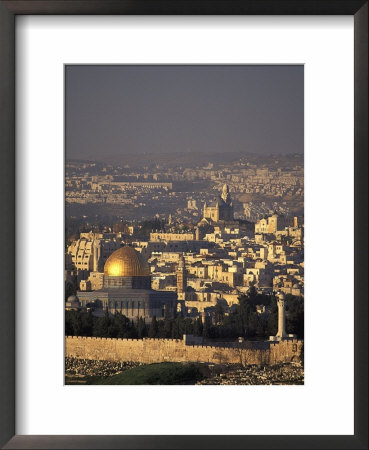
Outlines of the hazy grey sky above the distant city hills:
<svg viewBox="0 0 369 450">
<path fill-rule="evenodd" d="M 303 66 L 68 66 L 67 159 L 303 153 Z"/>
</svg>

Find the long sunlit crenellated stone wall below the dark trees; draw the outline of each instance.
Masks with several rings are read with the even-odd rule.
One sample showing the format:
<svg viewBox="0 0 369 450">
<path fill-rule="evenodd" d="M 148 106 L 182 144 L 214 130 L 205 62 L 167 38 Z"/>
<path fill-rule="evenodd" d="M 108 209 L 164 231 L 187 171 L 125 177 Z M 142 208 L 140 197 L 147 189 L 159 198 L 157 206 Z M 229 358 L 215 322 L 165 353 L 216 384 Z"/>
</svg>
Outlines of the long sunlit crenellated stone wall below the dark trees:
<svg viewBox="0 0 369 450">
<path fill-rule="evenodd" d="M 276 364 L 298 361 L 302 341 L 266 342 L 252 348 L 250 341 L 237 347 L 186 345 L 182 339 L 111 339 L 81 336 L 65 338 L 65 356 L 140 363 L 210 362 L 214 364 Z"/>
</svg>

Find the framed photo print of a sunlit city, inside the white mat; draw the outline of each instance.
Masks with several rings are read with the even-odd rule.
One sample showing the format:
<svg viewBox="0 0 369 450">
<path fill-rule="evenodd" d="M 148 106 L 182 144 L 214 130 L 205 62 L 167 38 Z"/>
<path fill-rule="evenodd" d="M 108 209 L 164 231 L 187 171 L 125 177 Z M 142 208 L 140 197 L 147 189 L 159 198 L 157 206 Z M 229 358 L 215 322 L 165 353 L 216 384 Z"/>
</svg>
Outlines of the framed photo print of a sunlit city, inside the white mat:
<svg viewBox="0 0 369 450">
<path fill-rule="evenodd" d="M 304 66 L 65 66 L 65 384 L 304 384 Z"/>
</svg>

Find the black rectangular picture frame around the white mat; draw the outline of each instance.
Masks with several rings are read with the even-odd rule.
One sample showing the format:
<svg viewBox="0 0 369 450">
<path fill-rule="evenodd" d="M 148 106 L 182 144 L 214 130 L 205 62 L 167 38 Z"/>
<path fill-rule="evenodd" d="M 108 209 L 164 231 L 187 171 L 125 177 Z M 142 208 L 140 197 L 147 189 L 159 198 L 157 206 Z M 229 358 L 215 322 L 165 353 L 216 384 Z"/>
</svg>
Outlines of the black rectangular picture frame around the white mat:
<svg viewBox="0 0 369 450">
<path fill-rule="evenodd" d="M 15 435 L 15 17 L 19 14 L 353 15 L 355 59 L 354 435 Z M 0 445 L 7 449 L 368 448 L 368 1 L 42 0 L 0 1 Z M 338 212 L 339 213 L 339 212 Z M 19 281 L 19 280 L 18 280 Z M 340 363 L 344 361 L 344 358 Z M 339 395 L 339 392 L 337 393 Z"/>
</svg>

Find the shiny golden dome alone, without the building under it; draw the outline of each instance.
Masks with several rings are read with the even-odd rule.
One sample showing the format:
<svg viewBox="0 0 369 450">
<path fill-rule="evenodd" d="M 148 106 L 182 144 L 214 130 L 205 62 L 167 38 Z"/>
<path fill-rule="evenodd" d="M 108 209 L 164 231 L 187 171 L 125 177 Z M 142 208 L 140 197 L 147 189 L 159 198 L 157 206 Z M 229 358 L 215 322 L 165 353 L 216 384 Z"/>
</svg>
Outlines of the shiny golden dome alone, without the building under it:
<svg viewBox="0 0 369 450">
<path fill-rule="evenodd" d="M 144 258 L 132 247 L 122 247 L 106 260 L 104 275 L 110 277 L 147 277 L 150 269 Z"/>
</svg>

